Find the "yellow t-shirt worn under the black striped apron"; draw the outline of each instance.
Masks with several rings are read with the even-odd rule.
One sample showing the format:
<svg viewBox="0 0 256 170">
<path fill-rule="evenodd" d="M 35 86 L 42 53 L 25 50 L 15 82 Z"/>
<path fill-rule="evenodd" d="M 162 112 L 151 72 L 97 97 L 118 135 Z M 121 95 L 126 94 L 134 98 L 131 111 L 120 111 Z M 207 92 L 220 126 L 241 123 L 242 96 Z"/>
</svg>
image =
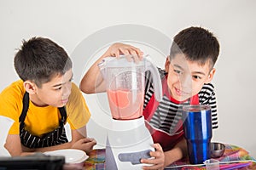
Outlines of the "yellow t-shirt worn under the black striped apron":
<svg viewBox="0 0 256 170">
<path fill-rule="evenodd" d="M 8 116 L 15 122 L 10 127 L 9 134 L 20 133 L 19 117 L 23 108 L 22 99 L 26 90 L 23 81 L 13 82 L 0 94 L 0 115 Z M 71 94 L 66 105 L 67 122 L 71 129 L 84 127 L 90 119 L 90 111 L 85 104 L 79 88 L 72 83 Z M 41 136 L 49 133 L 59 126 L 61 114 L 58 108 L 53 106 L 38 107 L 29 102 L 25 118 L 25 128 L 33 135 Z"/>
</svg>

